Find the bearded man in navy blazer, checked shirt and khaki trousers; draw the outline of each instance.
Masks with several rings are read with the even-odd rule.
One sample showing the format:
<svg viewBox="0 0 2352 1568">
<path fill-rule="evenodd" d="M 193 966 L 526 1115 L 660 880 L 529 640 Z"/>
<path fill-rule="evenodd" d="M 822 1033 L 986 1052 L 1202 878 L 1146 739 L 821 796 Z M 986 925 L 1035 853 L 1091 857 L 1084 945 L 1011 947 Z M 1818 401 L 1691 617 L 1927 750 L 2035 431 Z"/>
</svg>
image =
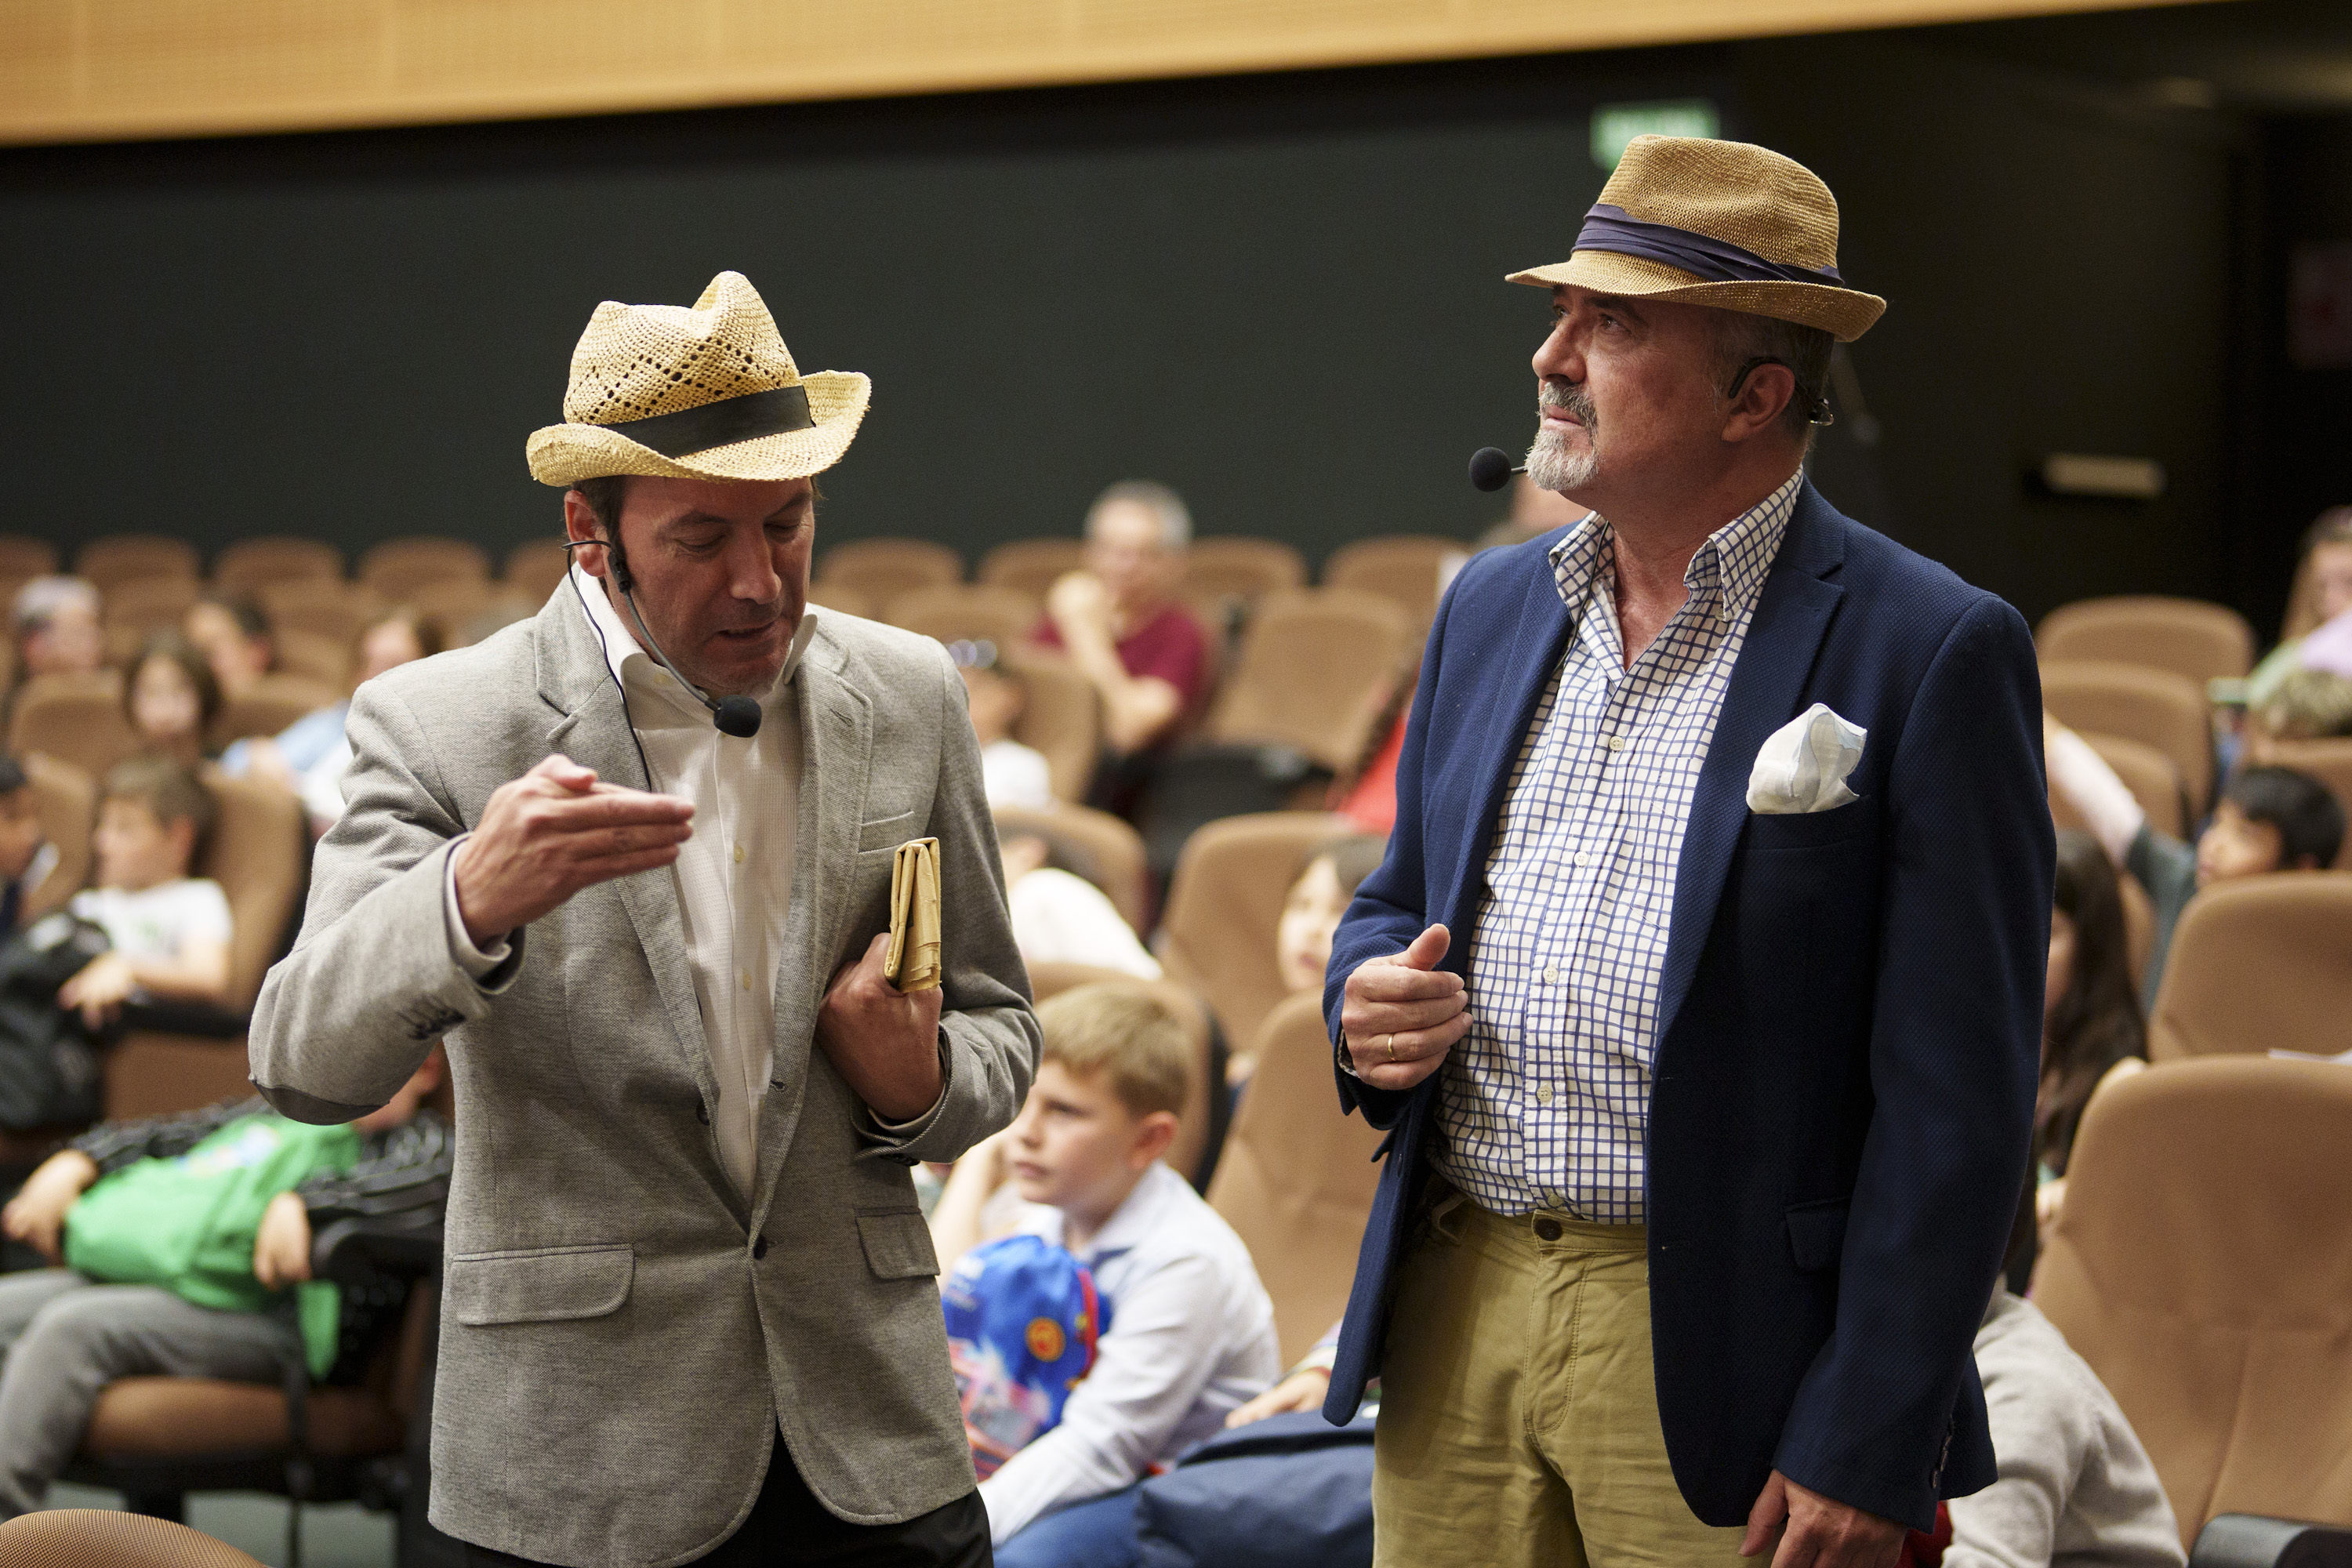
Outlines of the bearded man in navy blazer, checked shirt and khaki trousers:
<svg viewBox="0 0 2352 1568">
<path fill-rule="evenodd" d="M 1893 1563 L 1994 1479 L 1971 1338 L 2025 1173 L 2053 844 L 2002 599 L 1802 475 L 1835 270 L 1799 165 L 1637 139 L 1550 287 L 1331 952 L 1390 1128 L 1327 1415 L 1381 1563 Z M 1726 522 L 1731 520 L 1731 522 Z"/>
</svg>

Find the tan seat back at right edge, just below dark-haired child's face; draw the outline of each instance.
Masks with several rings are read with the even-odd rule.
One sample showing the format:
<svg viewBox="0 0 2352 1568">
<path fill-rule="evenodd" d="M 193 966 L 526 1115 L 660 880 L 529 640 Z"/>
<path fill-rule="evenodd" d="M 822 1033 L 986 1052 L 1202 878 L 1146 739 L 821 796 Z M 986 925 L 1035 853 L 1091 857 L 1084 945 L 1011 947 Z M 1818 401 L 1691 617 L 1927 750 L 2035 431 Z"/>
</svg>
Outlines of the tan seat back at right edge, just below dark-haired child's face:
<svg viewBox="0 0 2352 1568">
<path fill-rule="evenodd" d="M 2204 889 L 2183 910 L 2147 1020 L 2147 1060 L 2352 1046 L 2352 872 Z"/>
</svg>

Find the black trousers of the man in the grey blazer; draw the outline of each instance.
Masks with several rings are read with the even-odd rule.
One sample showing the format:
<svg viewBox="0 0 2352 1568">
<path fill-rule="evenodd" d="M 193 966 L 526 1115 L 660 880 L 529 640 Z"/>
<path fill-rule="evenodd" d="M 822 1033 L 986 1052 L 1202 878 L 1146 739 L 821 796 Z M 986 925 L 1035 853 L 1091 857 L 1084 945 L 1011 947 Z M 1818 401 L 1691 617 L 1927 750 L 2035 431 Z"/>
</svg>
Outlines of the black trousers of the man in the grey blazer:
<svg viewBox="0 0 2352 1568">
<path fill-rule="evenodd" d="M 527 1556 L 466 1547 L 468 1568 L 546 1568 Z M 743 1528 L 694 1559 L 696 1568 L 993 1568 L 988 1509 L 964 1493 L 906 1523 L 847 1523 L 826 1512 L 776 1439 L 760 1500 Z"/>
</svg>

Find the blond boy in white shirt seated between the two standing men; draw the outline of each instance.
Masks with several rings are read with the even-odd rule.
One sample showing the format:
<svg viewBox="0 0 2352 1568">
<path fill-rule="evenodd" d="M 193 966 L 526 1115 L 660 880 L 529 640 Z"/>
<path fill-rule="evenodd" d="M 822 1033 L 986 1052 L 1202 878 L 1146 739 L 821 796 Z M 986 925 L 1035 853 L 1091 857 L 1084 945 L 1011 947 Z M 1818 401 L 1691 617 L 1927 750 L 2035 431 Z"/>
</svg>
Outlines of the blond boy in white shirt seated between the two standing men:
<svg viewBox="0 0 2352 1568">
<path fill-rule="evenodd" d="M 1044 1060 L 1021 1117 L 955 1166 L 931 1225 L 953 1265 L 1011 1182 L 1011 1229 L 1091 1269 L 1108 1321 L 1094 1371 L 981 1500 L 1000 1568 L 1127 1563 L 1134 1481 L 1218 1432 L 1282 1352 L 1249 1248 L 1160 1159 L 1185 1098 L 1183 1025 L 1108 983 L 1044 1001 L 1037 1023 Z"/>
</svg>

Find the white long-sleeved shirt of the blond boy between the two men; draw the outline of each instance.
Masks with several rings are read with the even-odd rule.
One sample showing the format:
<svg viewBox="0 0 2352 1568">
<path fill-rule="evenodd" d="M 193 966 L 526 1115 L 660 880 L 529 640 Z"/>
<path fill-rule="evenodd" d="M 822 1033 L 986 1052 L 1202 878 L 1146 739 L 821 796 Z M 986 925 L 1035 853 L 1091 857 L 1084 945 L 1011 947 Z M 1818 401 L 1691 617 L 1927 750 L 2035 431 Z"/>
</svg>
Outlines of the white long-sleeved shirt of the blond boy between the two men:
<svg viewBox="0 0 2352 1568">
<path fill-rule="evenodd" d="M 1058 1208 L 1023 1204 L 1018 1229 L 1063 1246 Z M 1077 1260 L 1110 1328 L 1061 1425 L 981 1481 L 988 1533 L 1115 1493 L 1225 1429 L 1282 1375 L 1275 1305 L 1249 1248 L 1185 1178 L 1155 1164 Z"/>
</svg>

